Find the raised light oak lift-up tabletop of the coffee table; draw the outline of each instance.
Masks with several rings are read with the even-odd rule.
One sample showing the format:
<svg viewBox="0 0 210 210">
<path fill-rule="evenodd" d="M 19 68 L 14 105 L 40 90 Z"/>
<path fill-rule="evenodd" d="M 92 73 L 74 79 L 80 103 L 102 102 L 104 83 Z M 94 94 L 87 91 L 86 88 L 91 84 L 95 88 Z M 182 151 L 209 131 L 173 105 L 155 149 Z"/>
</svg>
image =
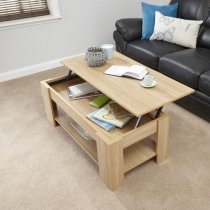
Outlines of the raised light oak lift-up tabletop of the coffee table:
<svg viewBox="0 0 210 210">
<path fill-rule="evenodd" d="M 89 67 L 84 55 L 65 59 L 62 63 L 136 117 L 194 92 L 192 88 L 148 67 L 147 71 L 157 81 L 154 88 L 142 87 L 139 80 L 104 74 L 112 65 L 142 65 L 118 52 L 114 52 L 113 58 L 101 67 Z"/>
</svg>

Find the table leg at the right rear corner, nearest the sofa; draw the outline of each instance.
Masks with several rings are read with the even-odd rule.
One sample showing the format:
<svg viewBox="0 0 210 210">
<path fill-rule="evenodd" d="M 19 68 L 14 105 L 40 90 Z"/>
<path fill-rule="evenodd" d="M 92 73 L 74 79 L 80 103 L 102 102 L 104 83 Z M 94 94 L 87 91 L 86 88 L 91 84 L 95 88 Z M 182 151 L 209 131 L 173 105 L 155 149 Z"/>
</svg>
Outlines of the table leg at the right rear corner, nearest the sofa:
<svg viewBox="0 0 210 210">
<path fill-rule="evenodd" d="M 157 146 L 156 146 L 157 163 L 161 163 L 167 159 L 168 134 L 169 134 L 169 116 L 164 115 L 158 119 L 158 136 L 157 136 Z"/>
</svg>

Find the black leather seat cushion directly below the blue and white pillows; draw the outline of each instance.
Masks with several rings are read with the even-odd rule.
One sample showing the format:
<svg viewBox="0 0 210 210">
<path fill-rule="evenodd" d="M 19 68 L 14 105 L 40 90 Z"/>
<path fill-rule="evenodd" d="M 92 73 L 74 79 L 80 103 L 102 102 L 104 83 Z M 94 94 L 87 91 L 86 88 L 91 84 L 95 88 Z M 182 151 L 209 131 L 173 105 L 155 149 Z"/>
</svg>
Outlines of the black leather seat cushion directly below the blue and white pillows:
<svg viewBox="0 0 210 210">
<path fill-rule="evenodd" d="M 157 70 L 159 58 L 161 56 L 183 49 L 186 48 L 168 42 L 139 39 L 128 43 L 126 55 L 150 68 Z"/>
</svg>

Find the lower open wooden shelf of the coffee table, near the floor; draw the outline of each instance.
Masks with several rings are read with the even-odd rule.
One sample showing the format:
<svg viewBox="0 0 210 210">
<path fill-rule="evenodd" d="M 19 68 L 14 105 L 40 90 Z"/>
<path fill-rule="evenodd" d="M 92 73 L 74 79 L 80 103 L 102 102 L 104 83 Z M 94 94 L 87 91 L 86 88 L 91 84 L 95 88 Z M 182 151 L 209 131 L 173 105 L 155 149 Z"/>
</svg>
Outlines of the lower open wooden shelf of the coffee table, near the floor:
<svg viewBox="0 0 210 210">
<path fill-rule="evenodd" d="M 96 141 L 85 140 L 72 126 L 72 120 L 66 115 L 55 118 L 56 122 L 72 137 L 72 139 L 89 155 L 89 157 L 98 164 Z M 124 173 L 132 170 L 138 165 L 156 156 L 155 142 L 146 138 L 123 150 L 124 155 Z"/>
</svg>

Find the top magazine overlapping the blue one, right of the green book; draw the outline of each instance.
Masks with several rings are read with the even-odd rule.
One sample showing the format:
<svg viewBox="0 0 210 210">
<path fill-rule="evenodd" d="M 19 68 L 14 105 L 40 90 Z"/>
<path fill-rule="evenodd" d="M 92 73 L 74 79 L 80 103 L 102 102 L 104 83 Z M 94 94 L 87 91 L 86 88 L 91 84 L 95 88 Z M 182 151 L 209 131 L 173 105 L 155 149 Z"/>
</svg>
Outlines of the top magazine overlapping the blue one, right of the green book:
<svg viewBox="0 0 210 210">
<path fill-rule="evenodd" d="M 111 103 L 111 102 L 110 102 Z M 115 118 L 108 103 L 106 106 L 94 113 L 93 118 L 112 124 L 116 127 L 122 128 L 127 122 L 131 120 L 133 115 L 128 115 L 121 118 Z"/>
</svg>

